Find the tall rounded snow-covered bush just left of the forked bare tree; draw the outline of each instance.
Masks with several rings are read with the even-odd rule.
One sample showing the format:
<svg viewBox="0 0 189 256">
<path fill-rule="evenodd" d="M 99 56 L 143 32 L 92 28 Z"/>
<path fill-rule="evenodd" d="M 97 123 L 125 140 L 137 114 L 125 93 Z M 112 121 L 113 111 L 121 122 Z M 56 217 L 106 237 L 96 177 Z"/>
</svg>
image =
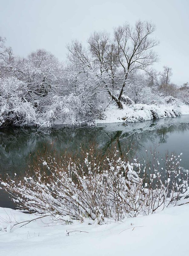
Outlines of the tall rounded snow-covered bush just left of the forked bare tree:
<svg viewBox="0 0 189 256">
<path fill-rule="evenodd" d="M 77 99 L 74 105 L 75 120 L 93 122 L 96 118 L 101 118 L 103 109 L 110 102 L 103 88 L 106 75 L 98 76 L 96 69 L 89 67 L 87 63 L 74 63 L 67 67 L 65 76 L 68 87 L 72 88 L 71 95 Z"/>
</svg>

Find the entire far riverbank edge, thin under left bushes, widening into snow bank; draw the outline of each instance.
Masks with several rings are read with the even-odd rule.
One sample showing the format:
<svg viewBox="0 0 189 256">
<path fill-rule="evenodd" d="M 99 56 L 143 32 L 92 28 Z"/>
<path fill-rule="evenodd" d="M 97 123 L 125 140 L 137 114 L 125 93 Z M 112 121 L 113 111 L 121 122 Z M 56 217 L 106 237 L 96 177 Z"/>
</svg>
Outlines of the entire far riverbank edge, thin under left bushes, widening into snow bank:
<svg viewBox="0 0 189 256">
<path fill-rule="evenodd" d="M 67 126 L 70 128 L 82 126 L 96 126 L 98 124 L 108 123 L 140 123 L 143 121 L 157 120 L 161 118 L 175 118 L 181 115 L 189 115 L 189 105 L 147 105 L 133 104 L 130 106 L 124 105 L 123 109 L 119 109 L 116 105 L 110 105 L 103 113 L 103 119 L 95 119 L 94 121 L 75 120 L 70 121 L 54 120 L 51 125 L 47 125 L 44 120 L 40 120 L 38 124 L 28 124 L 25 126 L 1 125 L 0 129 L 6 127 L 41 127 L 52 128 L 55 126 Z M 40 124 L 41 123 L 41 124 Z M 43 125 L 42 125 L 43 124 Z M 48 122 L 49 124 L 49 122 Z"/>
</svg>

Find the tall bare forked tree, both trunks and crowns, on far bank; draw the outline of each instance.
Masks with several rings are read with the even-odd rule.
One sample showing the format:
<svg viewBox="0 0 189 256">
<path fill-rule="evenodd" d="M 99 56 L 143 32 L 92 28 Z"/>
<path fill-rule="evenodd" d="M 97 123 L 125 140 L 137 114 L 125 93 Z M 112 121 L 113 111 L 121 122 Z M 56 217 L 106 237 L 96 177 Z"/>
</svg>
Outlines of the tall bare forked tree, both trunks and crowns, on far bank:
<svg viewBox="0 0 189 256">
<path fill-rule="evenodd" d="M 119 108 L 122 108 L 121 97 L 126 86 L 128 75 L 135 69 L 147 70 L 158 60 L 153 51 L 159 42 L 151 38 L 155 31 L 155 25 L 148 21 L 137 21 L 134 27 L 128 23 L 114 29 L 114 42 L 111 42 L 107 33 L 93 33 L 88 43 L 94 61 L 99 63 L 100 73 L 110 71 L 112 88 L 114 88 L 115 77 L 122 81 L 119 95 L 114 95 L 105 81 L 107 91 Z M 122 72 L 120 72 L 120 69 Z"/>
</svg>

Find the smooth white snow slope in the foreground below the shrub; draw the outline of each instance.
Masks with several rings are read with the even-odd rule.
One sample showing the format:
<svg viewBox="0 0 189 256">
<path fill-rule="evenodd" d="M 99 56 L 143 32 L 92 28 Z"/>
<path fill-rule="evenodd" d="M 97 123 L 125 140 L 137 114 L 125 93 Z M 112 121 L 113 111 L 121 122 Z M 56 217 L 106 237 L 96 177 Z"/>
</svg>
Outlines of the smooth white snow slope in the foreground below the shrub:
<svg viewBox="0 0 189 256">
<path fill-rule="evenodd" d="M 21 228 L 15 227 L 11 232 L 0 231 L 0 252 L 4 256 L 188 255 L 188 216 L 189 204 L 101 226 L 78 222 L 55 225 L 46 217 Z M 1 228 L 7 226 L 3 219 L 24 221 L 33 217 L 0 208 Z M 68 236 L 70 231 L 73 232 Z"/>
</svg>

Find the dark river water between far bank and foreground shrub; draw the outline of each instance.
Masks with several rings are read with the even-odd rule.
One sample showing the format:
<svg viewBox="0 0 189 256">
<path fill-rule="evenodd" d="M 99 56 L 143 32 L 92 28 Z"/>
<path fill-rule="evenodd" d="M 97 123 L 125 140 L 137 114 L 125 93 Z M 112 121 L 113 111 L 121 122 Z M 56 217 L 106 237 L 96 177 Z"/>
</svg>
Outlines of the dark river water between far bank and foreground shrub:
<svg viewBox="0 0 189 256">
<path fill-rule="evenodd" d="M 183 152 L 182 166 L 189 169 L 189 115 L 141 123 L 102 124 L 94 128 L 0 128 L 0 173 L 24 175 L 36 153 L 42 154 L 44 148 L 51 149 L 52 145 L 58 153 L 66 150 L 74 154 L 79 147 L 88 148 L 91 144 L 104 152 L 116 145 L 122 155 L 130 150 L 130 158 L 142 156 L 145 150 L 154 147 L 162 156 L 166 150 Z M 2 190 L 0 207 L 14 207 Z"/>
</svg>

